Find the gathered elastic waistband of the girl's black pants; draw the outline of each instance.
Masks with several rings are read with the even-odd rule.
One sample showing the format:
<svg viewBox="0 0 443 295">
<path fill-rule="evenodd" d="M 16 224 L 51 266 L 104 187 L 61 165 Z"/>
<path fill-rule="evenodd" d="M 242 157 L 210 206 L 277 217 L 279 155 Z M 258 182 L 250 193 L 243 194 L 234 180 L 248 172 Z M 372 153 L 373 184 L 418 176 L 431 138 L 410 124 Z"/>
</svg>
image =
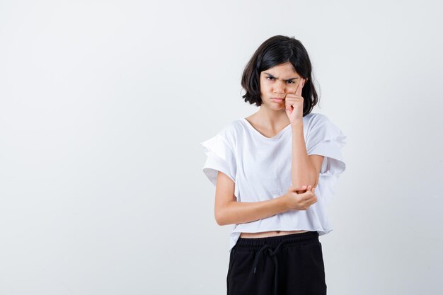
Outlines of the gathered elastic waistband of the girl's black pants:
<svg viewBox="0 0 443 295">
<path fill-rule="evenodd" d="M 270 236 L 265 238 L 238 238 L 234 248 L 247 250 L 260 250 L 263 245 L 303 245 L 318 242 L 317 231 L 307 231 L 306 233 L 291 233 L 283 236 Z"/>
</svg>

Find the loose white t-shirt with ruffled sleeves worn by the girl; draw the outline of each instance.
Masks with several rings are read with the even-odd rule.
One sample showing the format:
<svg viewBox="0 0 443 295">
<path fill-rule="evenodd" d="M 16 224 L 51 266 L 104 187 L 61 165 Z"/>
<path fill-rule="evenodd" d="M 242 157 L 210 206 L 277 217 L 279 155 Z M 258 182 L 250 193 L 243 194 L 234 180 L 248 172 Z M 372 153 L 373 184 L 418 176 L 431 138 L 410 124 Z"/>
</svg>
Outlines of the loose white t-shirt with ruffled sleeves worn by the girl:
<svg viewBox="0 0 443 295">
<path fill-rule="evenodd" d="M 288 210 L 264 219 L 234 224 L 229 237 L 229 252 L 240 233 L 261 231 L 332 231 L 325 205 L 346 166 L 341 149 L 345 134 L 326 115 L 310 113 L 303 117 L 304 140 L 308 155 L 325 156 L 315 194 L 317 202 L 306 210 Z M 287 125 L 275 137 L 265 137 L 245 118 L 229 122 L 214 137 L 202 141 L 207 160 L 202 170 L 217 185 L 222 171 L 234 180 L 237 202 L 260 202 L 284 195 L 292 185 L 292 127 Z"/>
</svg>

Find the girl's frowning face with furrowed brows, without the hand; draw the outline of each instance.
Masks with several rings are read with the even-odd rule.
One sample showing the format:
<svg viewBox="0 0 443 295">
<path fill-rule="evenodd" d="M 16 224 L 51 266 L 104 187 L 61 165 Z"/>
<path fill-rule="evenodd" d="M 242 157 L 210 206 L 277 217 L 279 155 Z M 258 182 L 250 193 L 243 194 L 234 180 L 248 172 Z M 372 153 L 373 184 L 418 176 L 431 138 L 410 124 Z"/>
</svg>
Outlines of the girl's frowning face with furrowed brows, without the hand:
<svg viewBox="0 0 443 295">
<path fill-rule="evenodd" d="M 262 105 L 272 110 L 284 109 L 284 100 L 271 98 L 285 98 L 287 93 L 295 93 L 301 76 L 294 71 L 292 64 L 279 64 L 260 73 L 260 96 Z"/>
</svg>

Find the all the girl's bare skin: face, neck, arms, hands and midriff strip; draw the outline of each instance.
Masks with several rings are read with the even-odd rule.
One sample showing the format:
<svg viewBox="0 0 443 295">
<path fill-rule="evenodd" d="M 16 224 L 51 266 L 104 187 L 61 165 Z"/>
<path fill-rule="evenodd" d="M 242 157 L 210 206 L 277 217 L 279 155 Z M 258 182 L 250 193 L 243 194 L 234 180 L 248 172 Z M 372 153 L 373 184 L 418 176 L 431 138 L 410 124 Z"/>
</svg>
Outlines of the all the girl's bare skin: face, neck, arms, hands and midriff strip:
<svg viewBox="0 0 443 295">
<path fill-rule="evenodd" d="M 262 202 L 236 202 L 235 184 L 218 173 L 214 213 L 217 224 L 242 224 L 297 209 L 306 210 L 317 202 L 314 194 L 323 156 L 307 155 L 303 135 L 303 97 L 306 79 L 294 71 L 292 64 L 280 64 L 260 73 L 260 110 L 246 120 L 265 137 L 274 137 L 287 125 L 292 127 L 292 183 L 286 194 Z M 271 98 L 284 98 L 275 102 Z M 301 183 L 304 182 L 304 183 Z M 241 233 L 241 238 L 283 236 L 306 231 L 265 231 Z"/>
</svg>

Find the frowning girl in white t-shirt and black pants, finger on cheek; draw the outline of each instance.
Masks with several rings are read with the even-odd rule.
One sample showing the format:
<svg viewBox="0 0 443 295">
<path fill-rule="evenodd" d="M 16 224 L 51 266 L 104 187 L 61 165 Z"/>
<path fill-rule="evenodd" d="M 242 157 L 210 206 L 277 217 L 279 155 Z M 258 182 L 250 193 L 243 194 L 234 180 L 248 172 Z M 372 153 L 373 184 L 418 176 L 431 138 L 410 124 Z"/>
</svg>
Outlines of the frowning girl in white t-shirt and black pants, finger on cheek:
<svg viewBox="0 0 443 295">
<path fill-rule="evenodd" d="M 332 231 L 325 206 L 345 170 L 345 134 L 318 102 L 308 53 L 294 37 L 263 42 L 241 80 L 258 112 L 200 143 L 216 185 L 217 224 L 234 224 L 227 294 L 326 294 L 318 236 Z"/>
</svg>

